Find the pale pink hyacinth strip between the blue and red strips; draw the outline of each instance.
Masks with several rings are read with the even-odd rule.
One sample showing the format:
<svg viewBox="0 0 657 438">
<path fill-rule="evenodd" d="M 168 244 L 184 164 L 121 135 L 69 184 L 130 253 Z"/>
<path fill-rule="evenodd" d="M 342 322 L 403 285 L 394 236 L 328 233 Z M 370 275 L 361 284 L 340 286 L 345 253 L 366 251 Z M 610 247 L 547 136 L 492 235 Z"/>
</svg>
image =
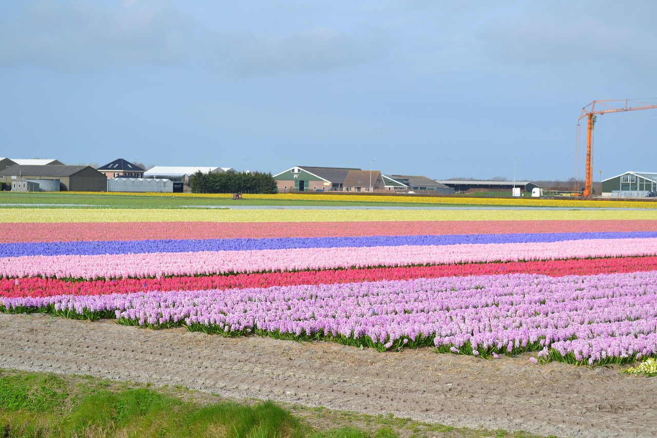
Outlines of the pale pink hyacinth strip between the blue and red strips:
<svg viewBox="0 0 657 438">
<path fill-rule="evenodd" d="M 258 251 L 200 251 L 91 256 L 20 256 L 3 259 L 7 278 L 117 278 L 209 275 L 368 266 L 407 266 L 555 258 L 652 256 L 657 239 L 591 239 L 551 243 L 340 247 Z"/>
</svg>

